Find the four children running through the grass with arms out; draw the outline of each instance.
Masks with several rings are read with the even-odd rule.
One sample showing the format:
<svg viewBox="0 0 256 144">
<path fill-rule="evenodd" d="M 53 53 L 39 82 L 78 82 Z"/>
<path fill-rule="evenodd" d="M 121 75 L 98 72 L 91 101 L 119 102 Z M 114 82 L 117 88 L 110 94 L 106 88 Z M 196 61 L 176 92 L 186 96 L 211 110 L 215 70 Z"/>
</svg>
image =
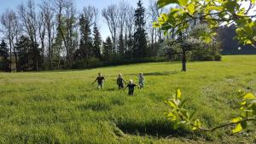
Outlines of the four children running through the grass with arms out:
<svg viewBox="0 0 256 144">
<path fill-rule="evenodd" d="M 102 76 L 102 73 L 99 72 L 98 73 L 98 77 L 96 78 L 96 80 L 92 83 L 95 84 L 97 82 L 98 84 L 98 89 L 102 89 L 103 88 L 103 83 L 106 81 L 106 79 Z M 133 83 L 133 80 L 130 79 L 129 83 L 127 84 L 123 78 L 123 75 L 121 73 L 119 73 L 118 78 L 116 80 L 116 84 L 118 85 L 119 89 L 129 89 L 128 90 L 128 95 L 133 95 L 134 93 L 134 89 L 136 86 L 138 86 L 140 89 L 143 89 L 144 87 L 144 81 L 145 78 L 143 76 L 143 72 L 140 72 L 138 74 L 138 85 Z M 127 84 L 126 86 L 124 86 L 124 84 Z"/>
</svg>

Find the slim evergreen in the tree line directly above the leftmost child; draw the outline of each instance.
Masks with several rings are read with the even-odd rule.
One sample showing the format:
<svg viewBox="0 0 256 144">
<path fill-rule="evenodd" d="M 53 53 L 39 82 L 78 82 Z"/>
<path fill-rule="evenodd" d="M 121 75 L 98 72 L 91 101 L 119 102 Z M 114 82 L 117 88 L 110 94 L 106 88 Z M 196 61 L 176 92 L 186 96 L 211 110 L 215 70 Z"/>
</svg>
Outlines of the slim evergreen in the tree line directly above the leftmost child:
<svg viewBox="0 0 256 144">
<path fill-rule="evenodd" d="M 102 37 L 99 32 L 96 24 L 93 27 L 93 53 L 96 58 L 101 59 L 101 45 L 102 45 Z"/>
</svg>

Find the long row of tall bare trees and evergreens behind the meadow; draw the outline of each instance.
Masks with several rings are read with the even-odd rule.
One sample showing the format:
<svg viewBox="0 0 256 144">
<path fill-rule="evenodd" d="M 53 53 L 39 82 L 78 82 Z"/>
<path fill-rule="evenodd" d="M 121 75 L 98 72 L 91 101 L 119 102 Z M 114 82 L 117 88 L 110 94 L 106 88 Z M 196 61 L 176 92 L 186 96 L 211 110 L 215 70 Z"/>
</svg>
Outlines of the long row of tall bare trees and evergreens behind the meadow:
<svg viewBox="0 0 256 144">
<path fill-rule="evenodd" d="M 39 71 L 72 68 L 79 61 L 88 67 L 94 61 L 156 56 L 163 34 L 151 25 L 159 14 L 154 0 L 149 9 L 138 0 L 136 9 L 123 1 L 102 11 L 78 10 L 73 0 L 28 0 L 1 14 L 1 66 L 6 72 Z M 105 40 L 100 16 L 111 33 Z"/>
</svg>

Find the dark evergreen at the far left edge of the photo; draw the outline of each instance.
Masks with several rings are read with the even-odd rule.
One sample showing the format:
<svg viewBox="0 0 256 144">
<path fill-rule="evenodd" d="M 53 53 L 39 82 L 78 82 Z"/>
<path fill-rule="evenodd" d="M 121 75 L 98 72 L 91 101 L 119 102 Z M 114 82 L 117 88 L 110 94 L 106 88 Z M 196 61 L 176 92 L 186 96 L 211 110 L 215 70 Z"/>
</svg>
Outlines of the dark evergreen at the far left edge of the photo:
<svg viewBox="0 0 256 144">
<path fill-rule="evenodd" d="M 0 69 L 3 72 L 9 72 L 9 64 L 10 61 L 8 60 L 9 57 L 9 49 L 7 48 L 7 44 L 2 41 L 0 43 L 0 57 L 2 57 L 2 60 L 0 60 Z"/>
</svg>

